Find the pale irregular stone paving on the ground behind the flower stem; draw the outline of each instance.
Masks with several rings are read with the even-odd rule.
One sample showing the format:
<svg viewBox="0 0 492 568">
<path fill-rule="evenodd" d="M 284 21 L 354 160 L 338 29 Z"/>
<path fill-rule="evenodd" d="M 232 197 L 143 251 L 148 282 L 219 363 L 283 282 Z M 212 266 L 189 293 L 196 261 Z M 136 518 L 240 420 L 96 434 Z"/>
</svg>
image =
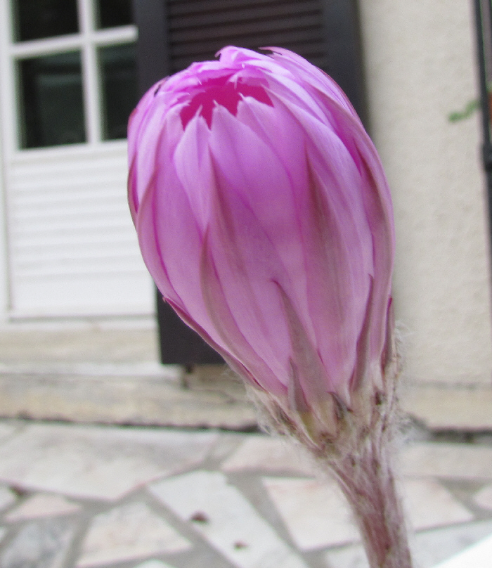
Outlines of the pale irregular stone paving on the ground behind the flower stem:
<svg viewBox="0 0 492 568">
<path fill-rule="evenodd" d="M 492 534 L 492 438 L 401 449 L 420 568 Z M 282 439 L 0 422 L 1 568 L 363 568 L 336 487 Z"/>
</svg>

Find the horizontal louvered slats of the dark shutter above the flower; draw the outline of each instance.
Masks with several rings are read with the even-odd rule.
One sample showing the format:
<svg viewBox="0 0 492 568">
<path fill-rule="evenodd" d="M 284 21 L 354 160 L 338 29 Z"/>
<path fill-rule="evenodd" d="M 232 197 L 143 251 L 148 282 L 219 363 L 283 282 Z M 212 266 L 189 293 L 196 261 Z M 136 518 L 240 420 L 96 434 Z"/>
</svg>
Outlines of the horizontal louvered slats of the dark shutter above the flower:
<svg viewBox="0 0 492 568">
<path fill-rule="evenodd" d="M 285 47 L 325 66 L 321 0 L 171 0 L 168 30 L 171 72 L 227 45 Z"/>
</svg>

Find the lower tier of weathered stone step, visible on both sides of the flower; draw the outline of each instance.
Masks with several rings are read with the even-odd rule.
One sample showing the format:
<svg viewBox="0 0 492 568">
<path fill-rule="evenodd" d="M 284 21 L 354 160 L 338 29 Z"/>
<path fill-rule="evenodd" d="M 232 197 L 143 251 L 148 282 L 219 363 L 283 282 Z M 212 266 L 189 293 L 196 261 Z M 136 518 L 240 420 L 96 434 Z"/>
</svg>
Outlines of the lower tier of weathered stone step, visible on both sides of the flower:
<svg viewBox="0 0 492 568">
<path fill-rule="evenodd" d="M 492 388 L 407 385 L 401 406 L 427 430 L 492 431 Z M 0 416 L 179 427 L 257 427 L 242 382 L 226 366 L 136 363 L 0 364 Z"/>
</svg>

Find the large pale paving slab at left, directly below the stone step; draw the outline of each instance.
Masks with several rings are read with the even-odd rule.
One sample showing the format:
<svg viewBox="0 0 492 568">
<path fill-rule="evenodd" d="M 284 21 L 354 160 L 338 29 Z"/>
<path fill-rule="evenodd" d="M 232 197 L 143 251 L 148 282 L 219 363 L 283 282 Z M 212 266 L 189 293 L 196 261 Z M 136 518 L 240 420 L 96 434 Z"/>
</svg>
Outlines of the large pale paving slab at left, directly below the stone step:
<svg viewBox="0 0 492 568">
<path fill-rule="evenodd" d="M 198 465 L 216 440 L 214 432 L 31 424 L 0 444 L 0 480 L 114 501 L 146 482 Z"/>
</svg>

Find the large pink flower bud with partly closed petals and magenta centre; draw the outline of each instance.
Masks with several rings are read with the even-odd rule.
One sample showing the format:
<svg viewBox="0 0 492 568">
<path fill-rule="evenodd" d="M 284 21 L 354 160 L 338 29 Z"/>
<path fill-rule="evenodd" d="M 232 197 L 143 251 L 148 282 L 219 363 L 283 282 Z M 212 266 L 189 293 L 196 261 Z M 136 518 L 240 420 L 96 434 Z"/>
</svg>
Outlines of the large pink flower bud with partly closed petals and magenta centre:
<svg viewBox="0 0 492 568">
<path fill-rule="evenodd" d="M 164 299 L 242 377 L 301 413 L 379 383 L 394 226 L 347 97 L 285 49 L 226 47 L 129 122 L 129 203 Z"/>
</svg>

